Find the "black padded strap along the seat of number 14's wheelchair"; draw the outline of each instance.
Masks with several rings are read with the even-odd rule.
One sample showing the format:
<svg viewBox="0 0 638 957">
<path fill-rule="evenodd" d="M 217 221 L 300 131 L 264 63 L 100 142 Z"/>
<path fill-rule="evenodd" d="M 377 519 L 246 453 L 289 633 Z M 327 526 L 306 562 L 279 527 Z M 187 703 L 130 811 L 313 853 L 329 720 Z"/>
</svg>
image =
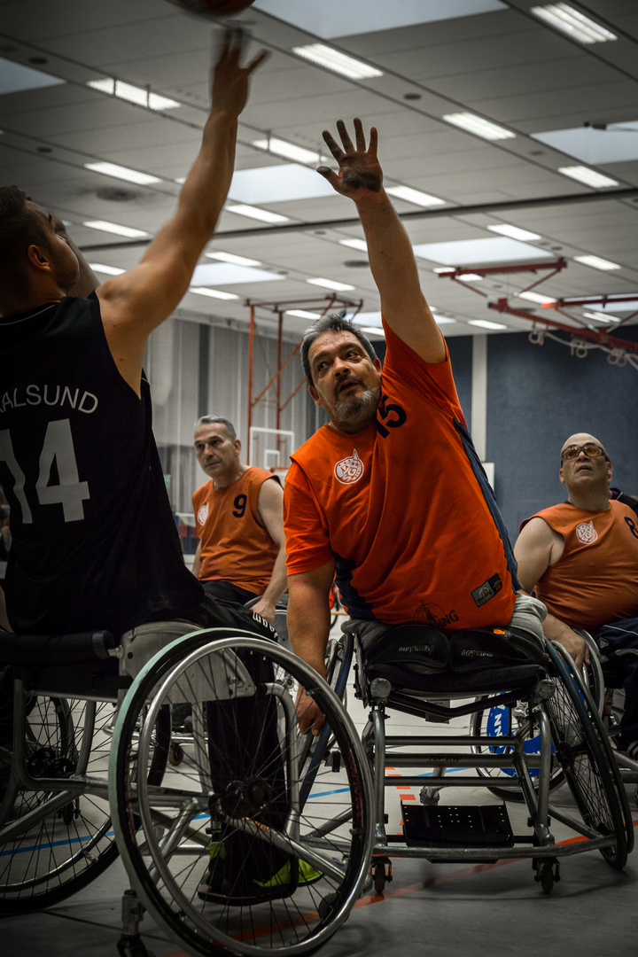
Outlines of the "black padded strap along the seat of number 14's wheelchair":
<svg viewBox="0 0 638 957">
<path fill-rule="evenodd" d="M 0 632 L 0 664 L 63 666 L 109 657 L 120 639 L 111 632 L 13 634 Z"/>
</svg>

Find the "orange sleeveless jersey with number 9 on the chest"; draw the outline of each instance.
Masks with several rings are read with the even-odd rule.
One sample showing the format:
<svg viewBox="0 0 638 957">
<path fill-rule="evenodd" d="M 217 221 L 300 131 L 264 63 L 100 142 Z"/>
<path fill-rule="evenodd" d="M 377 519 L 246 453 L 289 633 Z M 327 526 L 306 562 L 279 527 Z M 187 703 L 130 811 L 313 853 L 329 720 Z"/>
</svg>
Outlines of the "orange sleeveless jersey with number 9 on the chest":
<svg viewBox="0 0 638 957">
<path fill-rule="evenodd" d="M 201 581 L 220 578 L 261 594 L 271 580 L 279 548 L 257 522 L 259 489 L 278 479 L 254 466 L 228 488 L 214 489 L 212 479 L 193 493 L 195 524 L 201 548 Z"/>
</svg>

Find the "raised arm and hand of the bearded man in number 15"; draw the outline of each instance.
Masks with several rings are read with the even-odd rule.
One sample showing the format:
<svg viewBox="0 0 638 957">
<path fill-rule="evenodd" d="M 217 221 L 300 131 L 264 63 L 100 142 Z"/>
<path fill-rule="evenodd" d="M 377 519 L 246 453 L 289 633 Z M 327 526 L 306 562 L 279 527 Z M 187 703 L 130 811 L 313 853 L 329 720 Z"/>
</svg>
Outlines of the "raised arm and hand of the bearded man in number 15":
<svg viewBox="0 0 638 957">
<path fill-rule="evenodd" d="M 361 120 L 355 120 L 354 126 L 353 145 L 345 123 L 337 123 L 342 148 L 327 130 L 323 131 L 323 139 L 339 163 L 339 172 L 328 167 L 319 167 L 318 172 L 357 206 L 385 322 L 426 362 L 443 362 L 445 344 L 421 291 L 410 241 L 383 188 L 377 130 L 374 126 L 370 130 L 366 148 Z"/>
</svg>

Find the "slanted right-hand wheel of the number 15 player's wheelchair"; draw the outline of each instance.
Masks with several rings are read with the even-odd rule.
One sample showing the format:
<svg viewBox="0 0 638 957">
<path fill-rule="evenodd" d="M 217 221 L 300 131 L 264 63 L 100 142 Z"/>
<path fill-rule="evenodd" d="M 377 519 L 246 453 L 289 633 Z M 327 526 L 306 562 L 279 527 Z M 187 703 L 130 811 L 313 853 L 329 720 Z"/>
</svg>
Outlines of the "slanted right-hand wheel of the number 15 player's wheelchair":
<svg viewBox="0 0 638 957">
<path fill-rule="evenodd" d="M 612 867 L 622 870 L 633 847 L 627 794 L 598 709 L 581 673 L 560 645 L 547 644 L 556 667 L 556 692 L 543 702 L 569 790 L 589 828 L 616 841 L 601 848 Z"/>
</svg>

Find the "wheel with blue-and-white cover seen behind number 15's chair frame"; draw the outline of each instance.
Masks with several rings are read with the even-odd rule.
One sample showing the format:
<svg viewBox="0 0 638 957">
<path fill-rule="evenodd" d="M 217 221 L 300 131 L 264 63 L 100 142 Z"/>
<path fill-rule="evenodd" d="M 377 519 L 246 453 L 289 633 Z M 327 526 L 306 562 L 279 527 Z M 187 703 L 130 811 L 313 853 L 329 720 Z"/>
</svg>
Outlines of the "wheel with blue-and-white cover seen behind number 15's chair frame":
<svg viewBox="0 0 638 957">
<path fill-rule="evenodd" d="M 480 700 L 480 699 L 479 699 Z M 492 707 L 484 711 L 476 711 L 472 716 L 470 724 L 471 733 L 475 737 L 479 736 L 519 736 L 524 739 L 523 750 L 525 754 L 540 753 L 540 733 L 537 724 L 534 722 L 534 716 L 530 719 L 529 708 L 522 701 L 515 704 L 493 704 Z M 510 746 L 497 745 L 472 745 L 473 754 L 506 754 L 513 750 Z M 554 753 L 554 748 L 552 748 Z M 476 768 L 476 772 L 482 778 L 491 778 L 494 780 L 494 786 L 489 785 L 490 790 L 496 797 L 503 801 L 524 801 L 523 792 L 515 788 L 498 787 L 498 779 L 502 777 L 514 777 L 515 768 Z M 537 787 L 539 781 L 539 768 L 530 768 L 530 777 L 532 784 Z M 561 765 L 554 758 L 552 761 L 552 771 L 549 779 L 549 790 L 557 790 L 564 784 L 565 776 Z"/>
</svg>

